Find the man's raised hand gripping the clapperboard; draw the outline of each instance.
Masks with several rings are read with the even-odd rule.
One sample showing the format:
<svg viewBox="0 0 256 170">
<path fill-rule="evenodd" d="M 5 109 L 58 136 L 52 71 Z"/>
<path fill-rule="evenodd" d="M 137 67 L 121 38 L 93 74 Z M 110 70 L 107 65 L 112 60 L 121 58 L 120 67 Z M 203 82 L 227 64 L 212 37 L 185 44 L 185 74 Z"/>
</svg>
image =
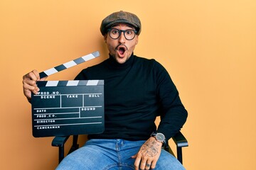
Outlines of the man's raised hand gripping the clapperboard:
<svg viewBox="0 0 256 170">
<path fill-rule="evenodd" d="M 39 73 L 36 69 L 23 76 L 23 94 L 28 98 L 28 100 L 31 99 L 31 92 L 33 92 L 33 94 L 37 94 L 39 91 L 36 81 L 43 81 L 46 78 L 47 77 L 40 79 Z"/>
</svg>

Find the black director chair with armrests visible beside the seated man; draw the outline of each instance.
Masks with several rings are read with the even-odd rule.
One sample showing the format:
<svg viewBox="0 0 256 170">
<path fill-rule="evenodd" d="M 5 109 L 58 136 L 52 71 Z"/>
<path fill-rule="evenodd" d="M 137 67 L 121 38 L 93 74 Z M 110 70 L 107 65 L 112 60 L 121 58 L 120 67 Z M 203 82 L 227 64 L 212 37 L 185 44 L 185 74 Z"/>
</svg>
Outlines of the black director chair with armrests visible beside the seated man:
<svg viewBox="0 0 256 170">
<path fill-rule="evenodd" d="M 59 163 L 63 160 L 64 158 L 64 146 L 65 146 L 65 142 L 68 140 L 70 136 L 65 136 L 65 137 L 55 137 L 53 139 L 52 142 L 52 146 L 53 147 L 58 147 L 59 148 Z M 174 140 L 175 144 L 176 144 L 176 157 L 178 159 L 179 162 L 181 162 L 182 164 L 182 147 L 188 147 L 188 141 L 186 140 L 186 138 L 183 136 L 183 134 L 181 132 L 177 132 L 176 135 L 174 135 L 174 137 L 172 137 L 172 139 Z M 78 145 L 78 135 L 73 135 L 73 145 L 71 146 L 68 154 L 70 154 L 71 152 L 75 151 L 75 149 L 78 149 L 79 145 Z M 166 144 L 166 146 L 164 147 L 164 149 L 173 154 L 174 152 L 172 152 L 171 147 L 169 147 L 168 142 Z"/>
</svg>

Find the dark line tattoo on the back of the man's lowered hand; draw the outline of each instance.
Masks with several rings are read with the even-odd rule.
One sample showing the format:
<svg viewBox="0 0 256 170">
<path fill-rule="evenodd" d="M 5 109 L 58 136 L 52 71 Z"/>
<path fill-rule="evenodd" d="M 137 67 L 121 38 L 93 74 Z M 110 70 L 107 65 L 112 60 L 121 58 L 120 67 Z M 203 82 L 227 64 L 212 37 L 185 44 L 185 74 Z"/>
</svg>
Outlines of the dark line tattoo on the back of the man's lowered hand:
<svg viewBox="0 0 256 170">
<path fill-rule="evenodd" d="M 143 156 L 154 157 L 159 150 L 159 144 L 156 140 L 148 140 L 142 145 L 141 151 Z"/>
</svg>

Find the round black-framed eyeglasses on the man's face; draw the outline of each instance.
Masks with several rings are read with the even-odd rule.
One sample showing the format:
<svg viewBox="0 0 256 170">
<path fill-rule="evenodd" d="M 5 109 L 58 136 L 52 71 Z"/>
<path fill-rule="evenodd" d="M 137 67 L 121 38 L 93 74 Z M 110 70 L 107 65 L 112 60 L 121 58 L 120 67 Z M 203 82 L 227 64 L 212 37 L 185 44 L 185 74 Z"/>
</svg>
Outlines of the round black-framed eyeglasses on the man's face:
<svg viewBox="0 0 256 170">
<path fill-rule="evenodd" d="M 129 30 L 119 30 L 117 28 L 110 28 L 107 31 L 108 31 L 108 33 L 110 35 L 110 38 L 112 38 L 114 40 L 119 38 L 121 33 L 124 33 L 124 38 L 127 39 L 127 40 L 134 39 L 135 35 L 137 34 L 137 31 L 136 30 L 132 30 L 132 29 L 129 29 Z"/>
</svg>

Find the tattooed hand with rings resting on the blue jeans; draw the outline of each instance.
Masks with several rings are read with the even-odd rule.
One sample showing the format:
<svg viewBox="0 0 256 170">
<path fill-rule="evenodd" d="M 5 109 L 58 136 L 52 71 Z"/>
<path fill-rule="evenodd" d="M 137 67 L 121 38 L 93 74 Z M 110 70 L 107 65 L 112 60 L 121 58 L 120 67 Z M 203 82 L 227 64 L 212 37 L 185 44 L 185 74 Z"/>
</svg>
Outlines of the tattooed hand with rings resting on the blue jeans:
<svg viewBox="0 0 256 170">
<path fill-rule="evenodd" d="M 135 170 L 154 169 L 160 157 L 162 145 L 161 142 L 156 141 L 156 138 L 150 137 L 139 149 L 139 152 L 132 156 L 135 159 Z"/>
</svg>

